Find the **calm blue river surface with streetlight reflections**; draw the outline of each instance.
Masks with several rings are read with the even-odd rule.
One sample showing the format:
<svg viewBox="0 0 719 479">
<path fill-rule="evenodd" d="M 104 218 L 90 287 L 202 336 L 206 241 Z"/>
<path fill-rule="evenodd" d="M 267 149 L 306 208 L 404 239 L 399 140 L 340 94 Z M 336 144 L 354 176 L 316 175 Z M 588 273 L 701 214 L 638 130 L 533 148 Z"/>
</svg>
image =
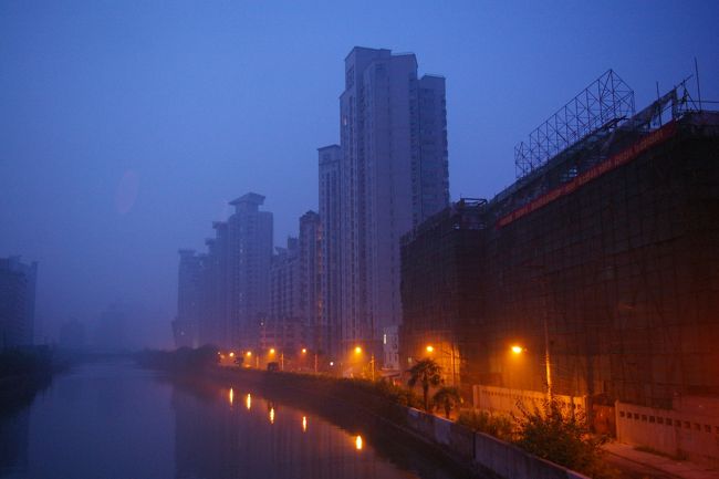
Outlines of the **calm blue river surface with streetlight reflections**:
<svg viewBox="0 0 719 479">
<path fill-rule="evenodd" d="M 0 478 L 449 477 L 290 404 L 132 363 L 80 366 L 0 418 Z"/>
</svg>

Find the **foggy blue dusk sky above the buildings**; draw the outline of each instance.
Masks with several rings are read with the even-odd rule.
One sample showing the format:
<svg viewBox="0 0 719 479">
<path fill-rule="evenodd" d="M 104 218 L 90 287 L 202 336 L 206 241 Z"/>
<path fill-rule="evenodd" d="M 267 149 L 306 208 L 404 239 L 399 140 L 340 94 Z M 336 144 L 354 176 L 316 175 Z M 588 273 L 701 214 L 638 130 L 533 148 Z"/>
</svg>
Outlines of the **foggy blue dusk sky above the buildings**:
<svg viewBox="0 0 719 479">
<path fill-rule="evenodd" d="M 295 235 L 354 45 L 446 76 L 452 199 L 511 184 L 514 144 L 609 67 L 639 110 L 697 56 L 719 100 L 715 1 L 59 3 L 0 2 L 0 256 L 39 261 L 51 337 L 122 301 L 169 346 L 177 250 L 249 190 Z"/>
</svg>

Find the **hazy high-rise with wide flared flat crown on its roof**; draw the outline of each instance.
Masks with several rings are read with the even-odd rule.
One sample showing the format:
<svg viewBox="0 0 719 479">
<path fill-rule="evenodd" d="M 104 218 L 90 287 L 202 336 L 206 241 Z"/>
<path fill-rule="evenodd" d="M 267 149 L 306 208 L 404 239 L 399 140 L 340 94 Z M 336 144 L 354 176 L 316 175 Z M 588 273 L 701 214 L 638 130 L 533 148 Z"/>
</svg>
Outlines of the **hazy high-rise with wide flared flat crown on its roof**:
<svg viewBox="0 0 719 479">
<path fill-rule="evenodd" d="M 264 196 L 248 192 L 230 201 L 227 221 L 228 322 L 231 344 L 252 347 L 259 324 L 269 313 L 272 214 L 260 211 Z"/>
</svg>

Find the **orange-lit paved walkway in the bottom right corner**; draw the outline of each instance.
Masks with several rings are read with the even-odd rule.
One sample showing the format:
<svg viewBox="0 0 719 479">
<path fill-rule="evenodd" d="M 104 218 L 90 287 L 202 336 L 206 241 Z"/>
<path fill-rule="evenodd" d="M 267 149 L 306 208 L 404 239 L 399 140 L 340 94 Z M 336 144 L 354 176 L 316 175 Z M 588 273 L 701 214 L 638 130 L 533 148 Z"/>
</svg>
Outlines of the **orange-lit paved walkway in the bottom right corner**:
<svg viewBox="0 0 719 479">
<path fill-rule="evenodd" d="M 719 469 L 695 462 L 678 461 L 668 457 L 635 450 L 619 442 L 604 445 L 606 459 L 632 479 L 719 479 Z"/>
</svg>

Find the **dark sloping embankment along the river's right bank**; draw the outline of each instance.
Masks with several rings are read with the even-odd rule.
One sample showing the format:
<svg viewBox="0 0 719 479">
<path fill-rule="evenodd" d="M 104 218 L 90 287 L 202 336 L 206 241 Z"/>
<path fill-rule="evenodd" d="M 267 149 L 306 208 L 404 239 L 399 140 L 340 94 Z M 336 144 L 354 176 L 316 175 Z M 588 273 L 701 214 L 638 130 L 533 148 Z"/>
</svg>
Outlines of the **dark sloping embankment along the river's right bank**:
<svg viewBox="0 0 719 479">
<path fill-rule="evenodd" d="M 402 436 L 438 459 L 451 462 L 463 477 L 504 479 L 588 479 L 579 472 L 527 454 L 522 449 L 447 419 L 394 404 L 371 384 L 313 375 L 215 368 L 210 376 L 265 397 L 288 398 L 320 408 L 342 426 L 362 424 Z"/>
</svg>

